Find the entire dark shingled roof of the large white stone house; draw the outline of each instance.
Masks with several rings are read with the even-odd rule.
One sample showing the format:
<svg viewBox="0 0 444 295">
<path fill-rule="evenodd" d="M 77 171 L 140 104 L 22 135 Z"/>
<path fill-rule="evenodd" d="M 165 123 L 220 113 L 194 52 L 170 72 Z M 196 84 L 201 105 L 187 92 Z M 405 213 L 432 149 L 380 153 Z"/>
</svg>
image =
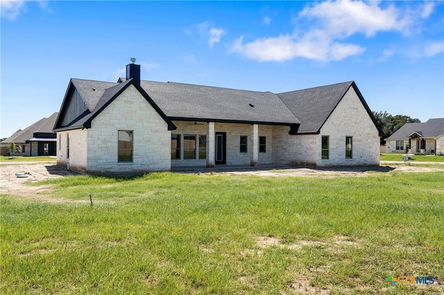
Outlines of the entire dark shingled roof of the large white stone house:
<svg viewBox="0 0 444 295">
<path fill-rule="evenodd" d="M 355 89 L 375 123 L 373 114 L 352 81 L 280 94 L 146 80 L 142 80 L 139 86 L 130 81 L 125 78 L 119 78 L 117 83 L 71 79 L 65 100 L 71 87 L 75 87 L 89 110 L 71 125 L 56 125 L 55 129 L 90 127 L 92 119 L 109 105 L 128 83 L 135 85 L 156 111 L 164 116 L 172 129 L 176 127 L 171 120 L 192 120 L 288 125 L 291 126 L 291 134 L 296 134 L 297 130 L 298 133 L 318 133 L 350 87 Z M 65 100 L 60 116 L 63 116 L 67 103 Z"/>
</svg>

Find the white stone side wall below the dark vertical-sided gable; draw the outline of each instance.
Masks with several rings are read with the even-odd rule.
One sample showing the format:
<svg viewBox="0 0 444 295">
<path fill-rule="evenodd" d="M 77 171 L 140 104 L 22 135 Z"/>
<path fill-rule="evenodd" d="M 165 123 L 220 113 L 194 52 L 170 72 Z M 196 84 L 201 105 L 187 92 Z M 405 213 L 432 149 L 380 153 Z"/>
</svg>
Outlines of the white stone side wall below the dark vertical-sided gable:
<svg viewBox="0 0 444 295">
<path fill-rule="evenodd" d="M 69 134 L 69 157 L 67 138 Z M 69 170 L 85 172 L 87 170 L 87 129 L 75 129 L 57 132 L 57 165 Z"/>
</svg>

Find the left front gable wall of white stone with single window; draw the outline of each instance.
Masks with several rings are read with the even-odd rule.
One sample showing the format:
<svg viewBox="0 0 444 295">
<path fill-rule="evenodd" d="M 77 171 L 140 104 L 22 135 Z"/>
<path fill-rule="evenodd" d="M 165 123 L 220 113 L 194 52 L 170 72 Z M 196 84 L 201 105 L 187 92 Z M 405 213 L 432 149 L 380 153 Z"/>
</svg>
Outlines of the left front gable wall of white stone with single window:
<svg viewBox="0 0 444 295">
<path fill-rule="evenodd" d="M 133 131 L 133 161 L 119 162 L 118 132 Z M 87 129 L 88 172 L 169 170 L 171 132 L 164 119 L 130 85 Z"/>
</svg>

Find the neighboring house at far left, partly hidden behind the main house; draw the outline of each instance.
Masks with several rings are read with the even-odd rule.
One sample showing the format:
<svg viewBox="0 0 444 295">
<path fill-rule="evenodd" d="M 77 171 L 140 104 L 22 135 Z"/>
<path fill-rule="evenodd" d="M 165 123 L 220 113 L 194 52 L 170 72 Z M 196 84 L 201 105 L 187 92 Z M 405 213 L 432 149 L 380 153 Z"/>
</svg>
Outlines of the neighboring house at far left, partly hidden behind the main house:
<svg viewBox="0 0 444 295">
<path fill-rule="evenodd" d="M 49 118 L 42 118 L 25 129 L 17 130 L 15 134 L 0 143 L 1 155 L 6 156 L 9 144 L 14 141 L 17 156 L 56 156 L 56 134 L 53 132 L 58 113 Z"/>
</svg>

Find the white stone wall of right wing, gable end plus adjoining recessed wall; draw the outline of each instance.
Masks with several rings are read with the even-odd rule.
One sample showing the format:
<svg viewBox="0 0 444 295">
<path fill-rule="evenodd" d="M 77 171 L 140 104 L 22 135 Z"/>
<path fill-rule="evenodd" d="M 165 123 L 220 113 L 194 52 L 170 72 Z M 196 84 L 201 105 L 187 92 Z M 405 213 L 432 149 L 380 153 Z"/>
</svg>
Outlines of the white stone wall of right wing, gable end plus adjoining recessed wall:
<svg viewBox="0 0 444 295">
<path fill-rule="evenodd" d="M 321 159 L 322 136 L 329 136 L 329 159 Z M 352 136 L 352 159 L 345 159 L 345 137 Z M 327 119 L 320 134 L 289 135 L 273 127 L 273 163 L 307 166 L 379 165 L 377 127 L 350 88 Z"/>
</svg>

